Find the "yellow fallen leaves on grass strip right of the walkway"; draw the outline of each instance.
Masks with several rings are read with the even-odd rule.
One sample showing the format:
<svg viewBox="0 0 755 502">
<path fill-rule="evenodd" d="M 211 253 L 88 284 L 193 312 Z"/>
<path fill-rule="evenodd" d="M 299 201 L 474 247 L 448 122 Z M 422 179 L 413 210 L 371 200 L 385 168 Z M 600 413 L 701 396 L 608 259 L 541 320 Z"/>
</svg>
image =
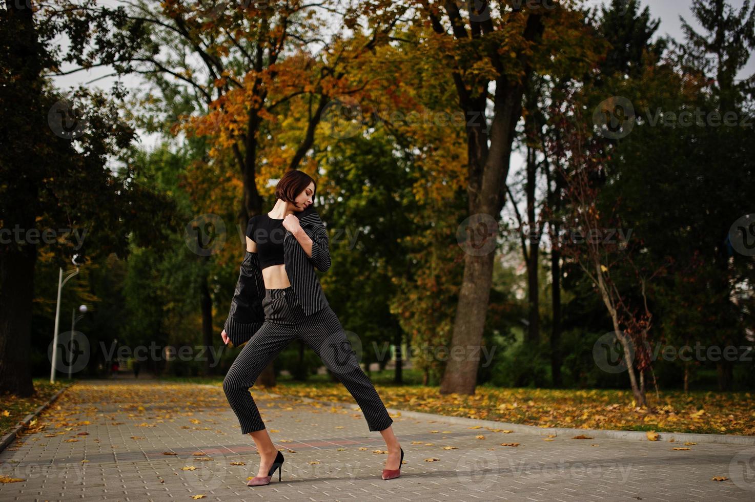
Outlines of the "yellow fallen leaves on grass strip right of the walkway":
<svg viewBox="0 0 755 502">
<path fill-rule="evenodd" d="M 653 430 L 673 433 L 755 435 L 753 393 L 666 391 L 647 396 L 636 408 L 630 390 L 496 389 L 477 387 L 471 396 L 441 395 L 439 387 L 376 385 L 389 408 L 451 417 L 481 418 L 535 427 L 599 430 Z M 270 390 L 285 396 L 353 402 L 339 383 L 280 383 Z M 481 426 L 468 427 L 481 429 Z"/>
</svg>

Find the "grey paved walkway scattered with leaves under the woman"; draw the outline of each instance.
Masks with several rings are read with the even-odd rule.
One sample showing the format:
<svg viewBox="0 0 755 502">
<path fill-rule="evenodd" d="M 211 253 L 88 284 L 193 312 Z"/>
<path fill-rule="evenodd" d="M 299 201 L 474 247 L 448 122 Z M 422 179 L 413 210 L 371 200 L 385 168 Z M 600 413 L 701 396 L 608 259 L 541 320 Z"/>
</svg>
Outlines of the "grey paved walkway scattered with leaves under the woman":
<svg viewBox="0 0 755 502">
<path fill-rule="evenodd" d="M 437 415 L 394 417 L 405 464 L 384 481 L 385 444 L 361 412 L 253 395 L 282 482 L 246 486 L 258 457 L 220 387 L 82 380 L 0 453 L 0 475 L 26 479 L 0 500 L 755 500 L 752 447 L 545 441 Z"/>
</svg>

